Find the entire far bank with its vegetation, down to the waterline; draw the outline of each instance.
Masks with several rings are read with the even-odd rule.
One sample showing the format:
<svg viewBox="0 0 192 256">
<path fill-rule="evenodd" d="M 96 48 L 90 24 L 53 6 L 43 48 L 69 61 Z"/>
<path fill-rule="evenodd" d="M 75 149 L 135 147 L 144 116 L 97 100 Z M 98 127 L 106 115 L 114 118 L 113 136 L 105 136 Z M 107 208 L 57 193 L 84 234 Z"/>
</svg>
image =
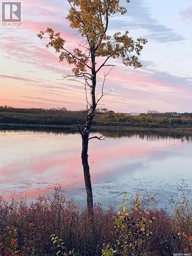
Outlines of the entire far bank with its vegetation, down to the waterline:
<svg viewBox="0 0 192 256">
<path fill-rule="evenodd" d="M 56 129 L 77 131 L 77 121 L 83 125 L 87 111 L 61 109 L 19 109 L 0 106 L 0 129 Z M 138 115 L 115 113 L 98 109 L 93 122 L 93 132 L 167 132 L 192 134 L 192 113 L 158 113 Z"/>
</svg>

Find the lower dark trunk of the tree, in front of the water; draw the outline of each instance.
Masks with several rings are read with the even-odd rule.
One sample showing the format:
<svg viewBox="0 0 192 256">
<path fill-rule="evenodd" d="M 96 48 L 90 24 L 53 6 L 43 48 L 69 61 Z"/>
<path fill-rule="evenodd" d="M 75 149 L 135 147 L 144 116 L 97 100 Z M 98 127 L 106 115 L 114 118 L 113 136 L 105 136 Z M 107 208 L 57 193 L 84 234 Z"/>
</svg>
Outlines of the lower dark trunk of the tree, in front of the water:
<svg viewBox="0 0 192 256">
<path fill-rule="evenodd" d="M 88 143 L 89 143 L 89 133 L 84 133 L 82 135 L 82 165 L 84 172 L 84 182 L 86 184 L 86 192 L 87 192 L 87 206 L 88 210 L 93 209 L 93 193 L 92 193 L 92 185 L 91 185 L 91 177 L 90 177 L 90 168 L 88 163 Z"/>
</svg>

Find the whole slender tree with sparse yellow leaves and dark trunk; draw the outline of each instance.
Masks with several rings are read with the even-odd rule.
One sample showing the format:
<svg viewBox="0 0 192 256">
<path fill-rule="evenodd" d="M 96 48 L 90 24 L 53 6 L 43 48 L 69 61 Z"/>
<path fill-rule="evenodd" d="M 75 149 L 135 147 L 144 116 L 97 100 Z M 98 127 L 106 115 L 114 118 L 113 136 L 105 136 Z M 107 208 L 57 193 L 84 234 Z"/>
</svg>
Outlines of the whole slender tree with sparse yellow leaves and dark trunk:
<svg viewBox="0 0 192 256">
<path fill-rule="evenodd" d="M 113 35 L 108 33 L 111 17 L 115 14 L 124 15 L 127 11 L 125 7 L 120 5 L 119 0 L 66 1 L 70 6 L 67 16 L 70 27 L 78 30 L 83 38 L 83 43 L 74 50 L 69 50 L 65 44 L 66 40 L 60 33 L 55 33 L 51 28 L 47 28 L 46 31 L 40 31 L 38 37 L 40 39 L 47 37 L 49 39 L 47 47 L 53 47 L 56 53 L 59 53 L 59 60 L 65 61 L 72 66 L 72 74 L 63 78 L 72 78 L 84 84 L 87 101 L 87 120 L 82 129 L 78 123 L 77 126 L 82 137 L 81 159 L 87 191 L 87 206 L 89 209 L 93 209 L 88 146 L 91 139 L 103 139 L 97 136 L 90 137 L 90 132 L 97 104 L 104 95 L 109 93 L 104 92 L 104 83 L 111 68 L 115 66 L 114 63 L 109 61 L 120 58 L 125 66 L 140 68 L 142 65 L 138 56 L 147 40 L 141 37 L 134 40 L 129 35 L 129 31 L 125 31 L 123 34 L 116 32 Z M 129 3 L 130 1 L 126 0 L 125 2 Z M 109 67 L 110 70 L 104 74 L 101 95 L 97 98 L 97 76 L 104 67 Z"/>
</svg>

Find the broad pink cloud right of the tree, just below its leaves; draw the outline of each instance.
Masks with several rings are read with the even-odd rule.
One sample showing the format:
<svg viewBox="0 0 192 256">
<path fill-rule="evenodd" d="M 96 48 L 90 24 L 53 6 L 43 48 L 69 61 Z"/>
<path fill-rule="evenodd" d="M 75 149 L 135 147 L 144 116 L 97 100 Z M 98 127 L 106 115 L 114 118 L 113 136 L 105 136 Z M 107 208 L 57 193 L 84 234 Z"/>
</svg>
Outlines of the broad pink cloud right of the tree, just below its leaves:
<svg viewBox="0 0 192 256">
<path fill-rule="evenodd" d="M 189 79 L 155 70 L 148 72 L 147 70 L 116 68 L 110 73 L 107 79 L 108 82 L 111 81 L 113 84 L 117 81 L 117 87 L 124 87 L 127 91 L 130 89 L 137 90 L 138 92 L 160 92 L 166 93 L 167 95 L 192 93 Z"/>
</svg>

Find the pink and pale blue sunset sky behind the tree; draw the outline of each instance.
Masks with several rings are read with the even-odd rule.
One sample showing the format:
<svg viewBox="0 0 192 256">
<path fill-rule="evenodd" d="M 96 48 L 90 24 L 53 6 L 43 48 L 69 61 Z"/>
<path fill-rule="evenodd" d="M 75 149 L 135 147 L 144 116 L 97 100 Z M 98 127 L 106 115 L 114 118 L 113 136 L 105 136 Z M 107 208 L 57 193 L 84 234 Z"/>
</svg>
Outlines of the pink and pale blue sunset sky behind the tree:
<svg viewBox="0 0 192 256">
<path fill-rule="evenodd" d="M 6 1 L 7 2 L 7 1 Z M 47 49 L 36 34 L 47 27 L 60 31 L 68 49 L 82 41 L 69 28 L 65 0 L 23 0 L 23 27 L 0 27 L 0 105 L 19 108 L 86 108 L 84 87 L 63 80 L 67 63 Z M 129 30 L 133 38 L 146 37 L 141 69 L 112 60 L 98 108 L 116 112 L 192 112 L 192 4 L 189 0 L 131 0 L 122 2 L 127 13 L 111 18 L 110 33 Z M 98 76 L 99 97 L 103 72 Z"/>
</svg>

